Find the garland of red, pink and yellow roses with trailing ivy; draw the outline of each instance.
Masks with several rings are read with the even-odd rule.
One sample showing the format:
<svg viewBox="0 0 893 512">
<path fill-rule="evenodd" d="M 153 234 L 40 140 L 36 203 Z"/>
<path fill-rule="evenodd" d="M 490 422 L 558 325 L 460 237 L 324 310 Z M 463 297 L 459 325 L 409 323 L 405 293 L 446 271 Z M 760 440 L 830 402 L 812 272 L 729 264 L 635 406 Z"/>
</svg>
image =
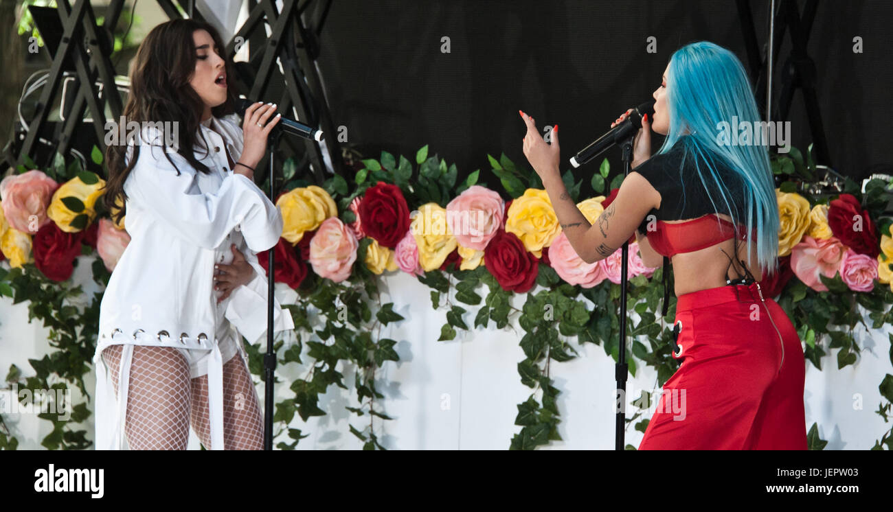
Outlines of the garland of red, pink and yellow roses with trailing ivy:
<svg viewBox="0 0 893 512">
<path fill-rule="evenodd" d="M 95 150 L 93 156 L 99 164 L 102 160 L 97 153 Z M 793 158 L 773 161 L 776 174 L 797 178 L 795 171 L 803 168 L 806 173 L 814 169 L 811 158 L 810 164 L 804 165 L 802 158 L 797 160 L 799 153 L 793 154 Z M 456 186 L 455 165 L 447 167 L 446 161 L 429 157 L 428 146 L 421 148 L 415 160 L 417 169 L 403 156 L 397 160 L 384 152 L 380 161 L 364 160 L 362 166 L 357 166 L 352 194 L 348 194 L 346 181 L 336 176 L 322 186 L 290 181 L 288 190 L 276 199 L 284 227 L 273 248 L 273 278 L 299 292 L 298 303 L 288 306 L 296 331 L 321 340 L 307 342 L 311 347 L 309 355 L 316 363 L 304 380 L 293 383 L 296 397 L 277 404 L 277 421 L 288 427 L 295 412 L 305 420 L 325 414 L 316 407 L 316 400 L 330 384 L 345 387 L 335 370 L 341 359 L 362 368 L 357 373 L 355 388 L 363 405 L 348 409 L 358 416 L 369 414 L 370 420 L 389 419 L 374 409 L 375 399 L 384 398 L 375 390 L 374 372 L 384 361 L 397 360 L 392 348 L 396 342 L 376 341 L 377 336 L 371 332 L 402 317 L 391 309 L 393 304 L 380 304 L 373 320 L 368 302 L 378 297 L 376 276 L 405 272 L 433 289 L 431 301 L 435 308 L 440 306 L 441 296 L 446 296 L 449 311 L 440 341 L 453 339 L 455 328 L 468 328 L 463 320 L 467 311 L 450 299 L 454 277 L 455 299 L 466 304 L 480 304 L 476 286 L 489 287 L 474 326 L 486 326 L 493 320 L 503 328 L 510 310 L 520 313 L 519 321 L 527 332 L 521 341 L 527 359 L 519 363 L 519 374 L 524 384 L 534 388 L 534 393 L 518 406 L 515 423 L 522 426 L 522 431 L 513 439 L 511 448 L 535 448 L 559 439 L 555 428 L 558 390 L 549 377 L 549 362 L 572 359 L 569 351 L 575 352 L 559 334 L 577 335 L 581 343 L 604 342 L 605 351 L 617 357 L 615 306 L 620 295 L 617 284 L 621 282 L 621 250 L 596 263 L 581 260 L 563 234 L 535 173 L 515 168 L 505 155 L 499 161 L 489 156 L 488 160 L 493 174 L 513 196 L 509 201 L 497 191 L 477 185 L 478 170 Z M 0 250 L 11 268 L 36 268 L 47 279 L 62 284 L 71 277 L 75 258 L 89 252 L 88 248 L 96 250 L 108 272 L 121 258 L 129 235 L 124 219 L 115 224 L 105 217 L 115 211 L 101 210 L 102 202 L 98 200 L 103 194 L 104 180 L 92 172 L 71 170 L 70 166 L 68 174 L 73 177 L 59 183 L 41 170 L 20 166 L 18 174 L 0 182 Z M 63 176 L 63 171 L 57 162 L 48 172 Z M 596 192 L 604 192 L 609 172 L 605 160 L 592 179 Z M 563 178 L 572 195 L 578 195 L 580 183 L 573 183 L 570 172 Z M 590 223 L 613 201 L 620 181 L 622 176 L 613 178 L 607 197 L 597 195 L 577 204 Z M 789 179 L 776 189 L 781 270 L 764 280 L 764 289 L 770 296 L 781 295 L 780 304 L 795 319 L 798 334 L 805 340 L 807 359 L 819 367 L 819 359 L 824 355 L 819 336 L 828 334 L 830 348 L 840 349 L 839 367 L 843 367 L 855 363 L 858 353 L 851 334 L 856 302 L 870 311 L 874 328 L 893 320 L 888 308 L 893 303 L 890 220 L 883 219 L 880 226 L 875 221 L 880 219 L 889 190 L 880 180 L 873 180 L 860 199 L 858 186 L 847 180 L 846 192 L 816 199 L 811 205 L 809 199 L 795 192 L 795 181 Z M 411 204 L 416 206 L 412 211 Z M 258 260 L 266 268 L 264 255 L 258 254 Z M 648 351 L 635 340 L 631 350 L 638 359 L 658 369 L 663 383 L 674 371 L 674 361 L 669 357 L 669 330 L 657 322 L 655 315 L 656 298 L 662 291 L 647 285 L 647 279 L 660 277 L 661 270 L 645 266 L 638 255 L 638 245 L 631 243 L 628 272 L 634 289 L 630 301 L 641 299 L 647 303 L 647 308 L 636 308 L 641 321 L 630 326 L 631 334 L 646 335 L 651 344 Z M 270 274 L 269 268 L 267 273 Z M 797 281 L 792 277 L 797 277 Z M 598 286 L 605 281 L 608 283 Z M 889 287 L 881 289 L 876 286 L 878 283 Z M 544 290 L 530 293 L 535 285 Z M 829 291 L 830 294 L 824 293 Z M 830 302 L 837 300 L 834 294 L 847 291 L 854 293 L 847 295 L 852 306 L 848 313 L 846 308 L 830 307 Z M 7 290 L 4 294 L 12 293 Z M 513 293 L 528 294 L 523 310 L 509 306 Z M 576 300 L 579 296 L 592 301 L 599 314 L 591 315 Z M 344 311 L 334 308 L 336 303 L 339 308 L 347 308 L 347 317 L 342 318 Z M 829 307 L 822 310 L 820 306 Z M 314 331 L 307 323 L 308 307 L 321 311 L 325 319 L 323 329 Z M 543 315 L 549 307 L 554 310 L 552 318 Z M 671 311 L 671 318 L 672 314 Z M 832 331 L 829 325 L 848 325 L 850 333 Z M 334 343 L 326 343 L 327 339 Z M 280 342 L 281 360 L 301 364 L 302 346 L 300 340 L 288 348 Z M 250 350 L 257 351 L 257 347 Z M 261 375 L 257 366 L 260 359 L 252 359 L 255 374 Z M 635 366 L 630 359 L 633 374 Z M 887 376 L 886 384 L 880 386 L 888 403 L 886 408 L 881 406 L 878 414 L 885 421 L 889 402 L 893 401 L 891 382 L 893 377 Z M 363 401 L 364 398 L 369 401 Z M 363 409 L 366 406 L 368 409 Z M 636 417 L 630 418 L 630 423 Z M 644 431 L 645 425 L 647 420 L 636 424 L 636 428 Z M 818 445 L 821 440 L 815 426 L 811 442 Z M 350 429 L 363 440 L 365 448 L 383 448 L 372 427 L 370 422 L 362 431 L 353 425 Z M 285 429 L 280 430 L 284 432 Z M 294 442 L 280 442 L 280 448 L 294 448 L 305 434 L 288 428 L 288 436 Z M 875 448 L 885 444 L 889 449 L 891 437 L 890 433 L 885 434 Z"/>
</svg>

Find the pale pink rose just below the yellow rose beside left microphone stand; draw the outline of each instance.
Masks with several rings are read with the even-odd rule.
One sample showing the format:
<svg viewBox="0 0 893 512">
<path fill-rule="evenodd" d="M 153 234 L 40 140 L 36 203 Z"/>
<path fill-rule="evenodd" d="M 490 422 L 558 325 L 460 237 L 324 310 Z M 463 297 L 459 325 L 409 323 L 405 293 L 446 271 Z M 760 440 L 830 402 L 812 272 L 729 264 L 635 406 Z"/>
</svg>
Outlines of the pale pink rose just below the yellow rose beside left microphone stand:
<svg viewBox="0 0 893 512">
<path fill-rule="evenodd" d="M 330 217 L 323 220 L 310 241 L 313 272 L 336 283 L 344 281 L 350 277 L 358 246 L 354 231 L 341 219 Z"/>
</svg>

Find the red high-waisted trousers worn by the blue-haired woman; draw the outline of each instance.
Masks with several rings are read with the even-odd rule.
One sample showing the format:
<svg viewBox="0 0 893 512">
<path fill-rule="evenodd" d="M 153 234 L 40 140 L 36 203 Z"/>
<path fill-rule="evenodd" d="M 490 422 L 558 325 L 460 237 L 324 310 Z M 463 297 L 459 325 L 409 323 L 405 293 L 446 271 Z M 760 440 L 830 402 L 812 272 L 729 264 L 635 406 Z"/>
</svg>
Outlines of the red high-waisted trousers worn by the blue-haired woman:
<svg viewBox="0 0 893 512">
<path fill-rule="evenodd" d="M 680 295 L 680 321 L 682 364 L 638 450 L 806 450 L 803 347 L 778 303 L 724 285 Z"/>
</svg>

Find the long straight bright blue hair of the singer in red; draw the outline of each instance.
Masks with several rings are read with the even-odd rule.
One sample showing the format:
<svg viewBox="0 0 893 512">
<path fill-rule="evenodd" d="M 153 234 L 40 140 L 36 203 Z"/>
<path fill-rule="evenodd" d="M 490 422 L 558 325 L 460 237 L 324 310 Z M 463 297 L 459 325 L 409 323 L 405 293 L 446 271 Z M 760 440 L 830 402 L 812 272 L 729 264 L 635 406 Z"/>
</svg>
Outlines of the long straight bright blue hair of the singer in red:
<svg viewBox="0 0 893 512">
<path fill-rule="evenodd" d="M 732 116 L 737 116 L 739 123 L 748 121 L 753 123 L 752 127 L 760 126 L 757 124 L 761 121 L 760 114 L 744 66 L 722 46 L 698 41 L 672 54 L 666 78 L 670 129 L 657 153 L 667 153 L 681 137 L 683 165 L 689 155 L 695 159 L 698 178 L 705 185 L 714 208 L 717 201 L 710 194 L 708 184 L 715 184 L 714 190 L 720 191 L 721 197 L 717 199 L 726 206 L 733 221 L 747 227 L 747 266 L 750 267 L 751 244 L 755 241 L 760 268 L 769 275 L 774 274 L 780 225 L 768 147 L 720 144 L 718 140 L 720 123 L 731 124 Z M 729 187 L 722 183 L 716 171 L 715 158 L 740 178 L 743 186 L 736 189 L 743 188 L 744 197 L 729 193 Z M 746 222 L 736 219 L 735 206 L 744 206 L 741 210 L 747 212 Z M 738 259 L 737 255 L 733 256 Z"/>
</svg>

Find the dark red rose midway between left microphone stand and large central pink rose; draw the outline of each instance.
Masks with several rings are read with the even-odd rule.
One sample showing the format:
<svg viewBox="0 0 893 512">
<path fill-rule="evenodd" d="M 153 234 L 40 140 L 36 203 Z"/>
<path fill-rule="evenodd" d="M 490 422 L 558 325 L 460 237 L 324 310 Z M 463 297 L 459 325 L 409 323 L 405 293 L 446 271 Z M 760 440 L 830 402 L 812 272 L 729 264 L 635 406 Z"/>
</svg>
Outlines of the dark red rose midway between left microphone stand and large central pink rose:
<svg viewBox="0 0 893 512">
<path fill-rule="evenodd" d="M 409 206 L 399 186 L 378 183 L 367 188 L 359 211 L 366 235 L 388 249 L 394 249 L 409 230 Z"/>
</svg>

